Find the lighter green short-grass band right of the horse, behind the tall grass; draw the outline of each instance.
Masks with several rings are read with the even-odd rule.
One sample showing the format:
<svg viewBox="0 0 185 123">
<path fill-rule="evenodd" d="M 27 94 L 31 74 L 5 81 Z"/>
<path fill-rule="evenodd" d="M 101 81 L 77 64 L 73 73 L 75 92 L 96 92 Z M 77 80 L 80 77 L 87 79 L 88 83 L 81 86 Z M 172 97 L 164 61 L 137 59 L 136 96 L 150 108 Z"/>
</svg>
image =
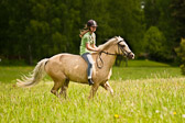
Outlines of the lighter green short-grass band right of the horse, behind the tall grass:
<svg viewBox="0 0 185 123">
<path fill-rule="evenodd" d="M 178 67 L 113 67 L 112 80 L 183 77 Z"/>
</svg>

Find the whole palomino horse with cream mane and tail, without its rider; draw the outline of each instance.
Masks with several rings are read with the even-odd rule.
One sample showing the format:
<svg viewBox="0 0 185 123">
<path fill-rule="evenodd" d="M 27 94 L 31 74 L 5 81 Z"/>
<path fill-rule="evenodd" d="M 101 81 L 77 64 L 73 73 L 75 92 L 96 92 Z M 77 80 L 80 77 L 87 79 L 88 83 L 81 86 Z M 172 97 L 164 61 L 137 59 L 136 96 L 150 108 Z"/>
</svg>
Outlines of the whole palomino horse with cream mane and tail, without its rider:
<svg viewBox="0 0 185 123">
<path fill-rule="evenodd" d="M 110 91 L 113 94 L 108 80 L 111 76 L 111 68 L 117 55 L 126 55 L 129 58 L 134 58 L 134 54 L 130 51 L 122 37 L 116 36 L 107 43 L 100 45 L 98 53 L 92 53 L 95 60 L 92 70 L 94 85 L 91 86 L 90 96 L 92 98 L 99 86 Z M 69 80 L 88 83 L 87 80 L 87 63 L 79 55 L 58 54 L 51 58 L 42 59 L 37 63 L 30 77 L 18 79 L 19 87 L 32 87 L 40 82 L 45 76 L 45 72 L 53 79 L 54 87 L 51 92 L 56 97 L 64 96 L 66 98 Z M 58 93 L 58 89 L 61 92 Z"/>
</svg>

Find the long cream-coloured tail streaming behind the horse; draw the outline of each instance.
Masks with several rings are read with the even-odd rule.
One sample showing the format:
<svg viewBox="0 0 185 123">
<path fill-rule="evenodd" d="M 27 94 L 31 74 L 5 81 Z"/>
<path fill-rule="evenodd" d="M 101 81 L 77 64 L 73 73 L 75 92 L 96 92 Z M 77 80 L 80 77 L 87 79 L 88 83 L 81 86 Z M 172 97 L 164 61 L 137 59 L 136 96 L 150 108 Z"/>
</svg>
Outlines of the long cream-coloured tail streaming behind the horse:
<svg viewBox="0 0 185 123">
<path fill-rule="evenodd" d="M 32 87 L 39 83 L 42 78 L 46 75 L 45 65 L 48 62 L 48 58 L 42 59 L 37 63 L 33 72 L 30 76 L 23 76 L 21 79 L 17 79 L 18 87 Z"/>
</svg>

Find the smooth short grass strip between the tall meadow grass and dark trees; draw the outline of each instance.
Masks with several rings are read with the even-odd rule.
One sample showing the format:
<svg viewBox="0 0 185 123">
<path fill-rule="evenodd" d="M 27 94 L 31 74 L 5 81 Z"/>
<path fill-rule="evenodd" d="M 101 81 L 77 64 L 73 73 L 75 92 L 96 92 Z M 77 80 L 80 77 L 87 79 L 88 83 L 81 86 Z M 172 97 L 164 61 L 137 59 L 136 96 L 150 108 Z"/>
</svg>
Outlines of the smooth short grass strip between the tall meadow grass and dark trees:
<svg viewBox="0 0 185 123">
<path fill-rule="evenodd" d="M 34 67 L 1 67 L 0 82 L 15 82 L 21 75 L 29 74 Z M 111 80 L 183 77 L 178 67 L 150 60 L 129 60 L 129 66 L 113 67 Z M 46 77 L 47 79 L 50 77 Z"/>
</svg>

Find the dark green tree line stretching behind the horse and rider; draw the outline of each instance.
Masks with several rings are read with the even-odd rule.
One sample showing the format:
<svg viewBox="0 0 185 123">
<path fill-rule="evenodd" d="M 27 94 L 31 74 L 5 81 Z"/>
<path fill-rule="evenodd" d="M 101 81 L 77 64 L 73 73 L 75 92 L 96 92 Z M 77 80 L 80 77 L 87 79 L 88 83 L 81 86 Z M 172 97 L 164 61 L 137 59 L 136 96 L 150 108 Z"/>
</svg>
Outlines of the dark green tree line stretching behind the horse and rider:
<svg viewBox="0 0 185 123">
<path fill-rule="evenodd" d="M 97 45 L 122 36 L 137 58 L 174 62 L 185 35 L 184 0 L 1 0 L 0 58 L 36 63 L 79 54 L 79 30 L 98 23 Z"/>
</svg>

